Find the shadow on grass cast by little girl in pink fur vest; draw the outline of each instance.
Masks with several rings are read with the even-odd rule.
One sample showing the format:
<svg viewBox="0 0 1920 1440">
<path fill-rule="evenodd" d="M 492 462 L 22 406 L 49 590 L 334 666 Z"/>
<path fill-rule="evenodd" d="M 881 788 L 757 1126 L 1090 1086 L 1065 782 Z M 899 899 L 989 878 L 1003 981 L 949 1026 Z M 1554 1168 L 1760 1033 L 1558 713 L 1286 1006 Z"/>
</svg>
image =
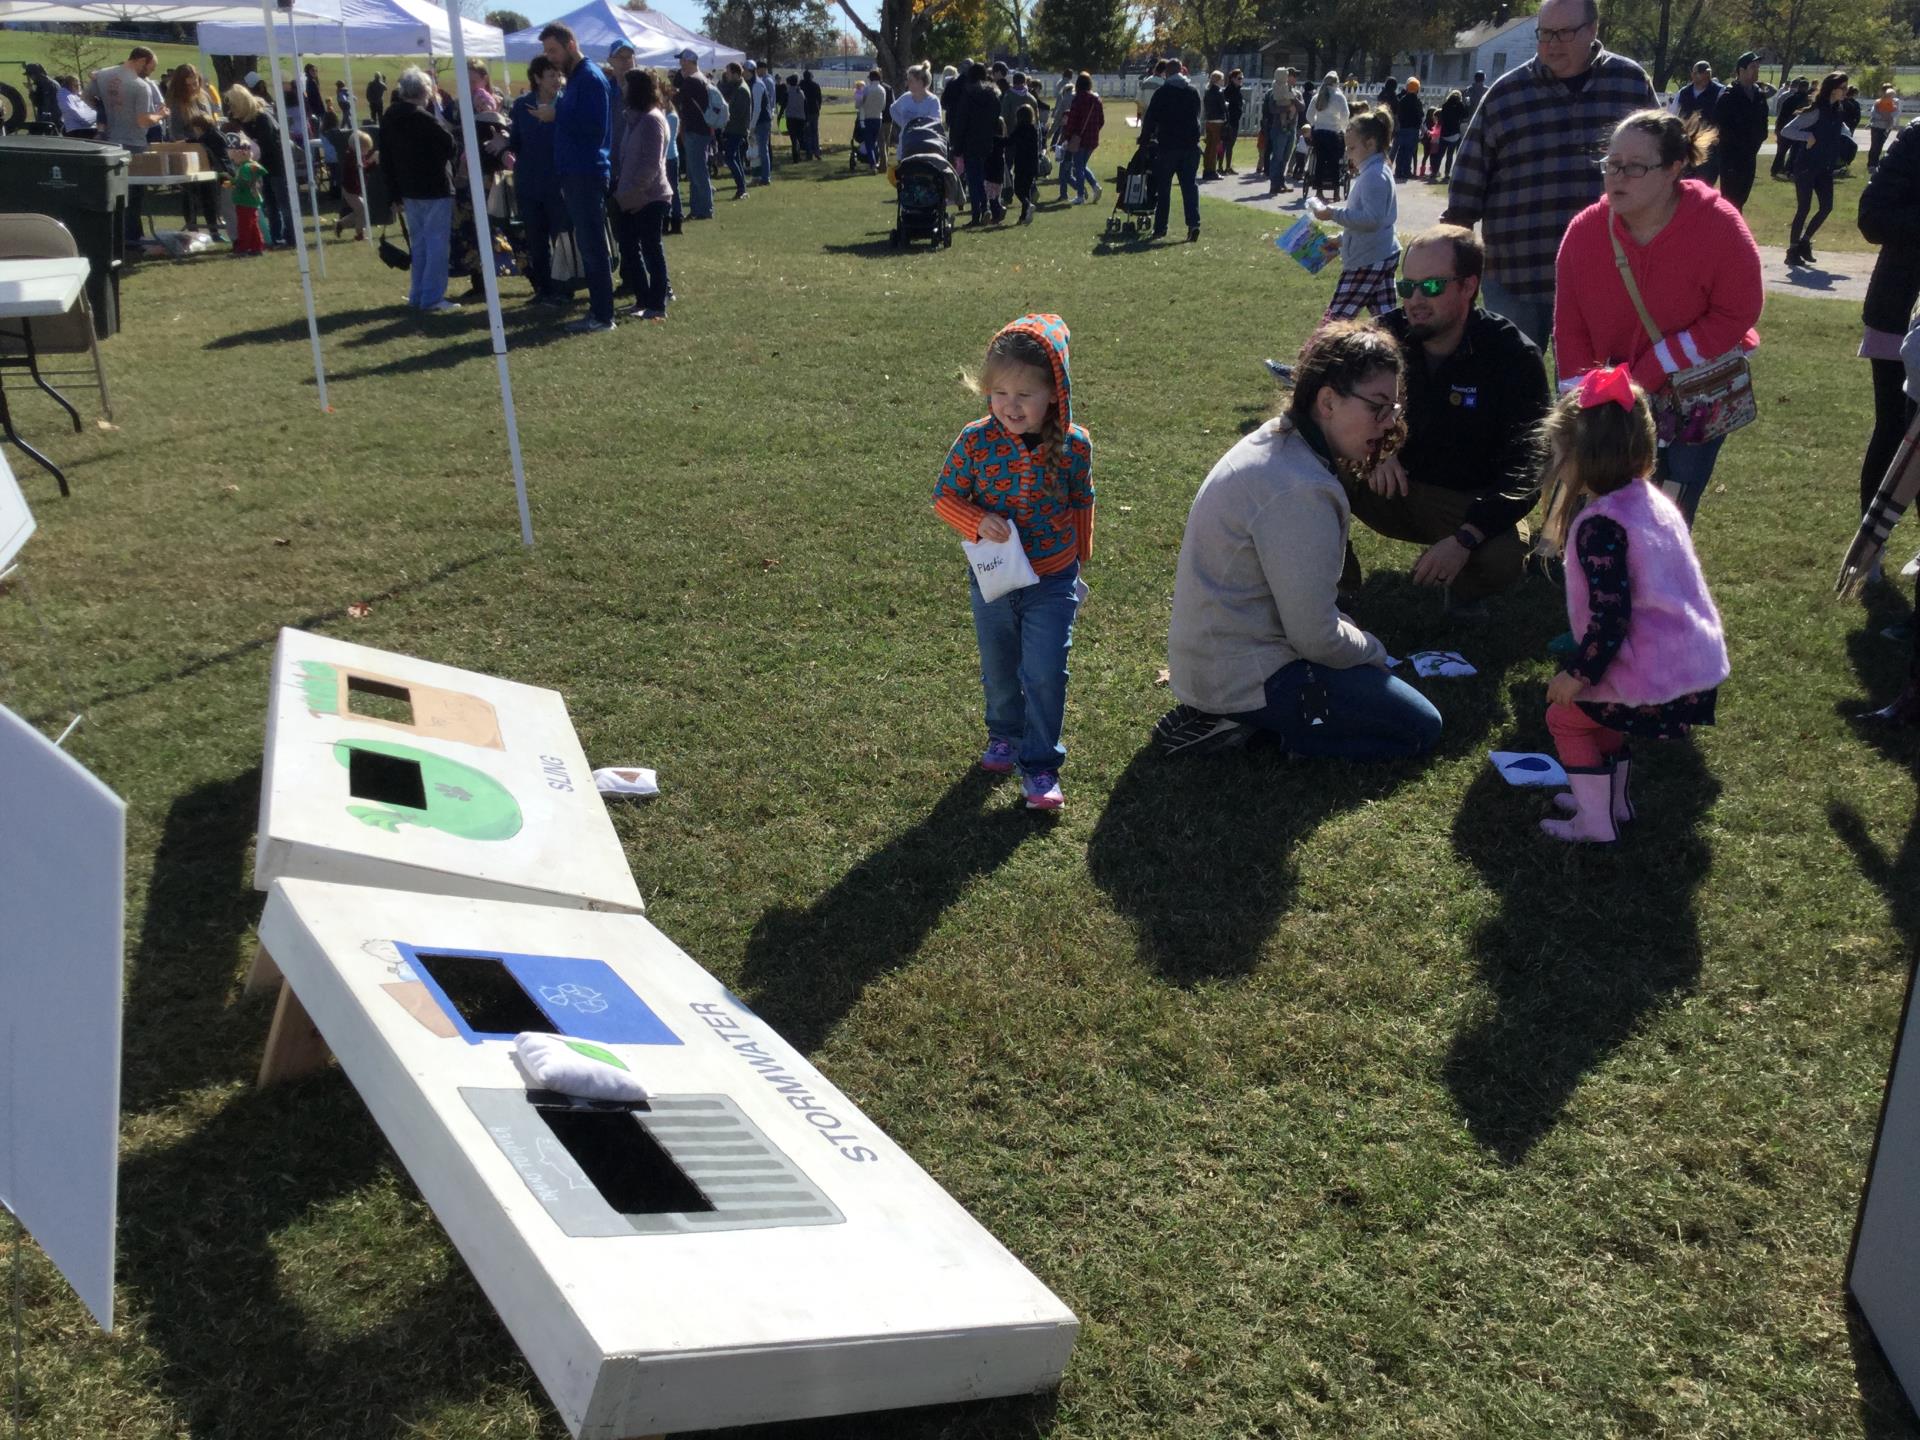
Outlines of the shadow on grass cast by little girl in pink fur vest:
<svg viewBox="0 0 1920 1440">
<path fill-rule="evenodd" d="M 1548 749 L 1540 689 L 1517 687 L 1513 708 L 1534 718 L 1500 749 Z M 1486 1010 L 1455 1037 L 1444 1073 L 1475 1139 L 1509 1165 L 1596 1066 L 1699 977 L 1693 893 L 1713 860 L 1699 826 L 1720 785 L 1688 741 L 1636 749 L 1642 818 L 1613 851 L 1548 839 L 1536 826 L 1551 812 L 1546 791 L 1488 768 L 1453 822 L 1453 849 L 1500 912 L 1473 937 Z"/>
</svg>

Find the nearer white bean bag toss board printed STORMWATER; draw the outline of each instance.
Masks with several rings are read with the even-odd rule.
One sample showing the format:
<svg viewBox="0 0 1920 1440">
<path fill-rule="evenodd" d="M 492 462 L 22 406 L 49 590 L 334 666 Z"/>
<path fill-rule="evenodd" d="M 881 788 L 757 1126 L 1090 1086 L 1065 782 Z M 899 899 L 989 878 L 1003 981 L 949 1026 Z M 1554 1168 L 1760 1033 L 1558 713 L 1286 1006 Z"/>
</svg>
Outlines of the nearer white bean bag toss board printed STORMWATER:
<svg viewBox="0 0 1920 1440">
<path fill-rule="evenodd" d="M 643 916 L 282 879 L 259 929 L 574 1436 L 1060 1380 L 1073 1313 Z M 516 1029 L 649 1100 L 530 1091 Z"/>
</svg>

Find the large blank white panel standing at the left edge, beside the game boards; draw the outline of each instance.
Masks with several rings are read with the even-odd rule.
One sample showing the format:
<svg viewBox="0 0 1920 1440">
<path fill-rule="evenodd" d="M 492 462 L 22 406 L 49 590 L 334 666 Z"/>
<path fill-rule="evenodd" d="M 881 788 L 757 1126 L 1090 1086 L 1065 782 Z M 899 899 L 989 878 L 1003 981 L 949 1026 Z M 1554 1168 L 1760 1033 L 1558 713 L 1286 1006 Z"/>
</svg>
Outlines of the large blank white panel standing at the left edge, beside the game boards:
<svg viewBox="0 0 1920 1440">
<path fill-rule="evenodd" d="M 0 707 L 0 1200 L 113 1329 L 127 806 Z"/>
</svg>

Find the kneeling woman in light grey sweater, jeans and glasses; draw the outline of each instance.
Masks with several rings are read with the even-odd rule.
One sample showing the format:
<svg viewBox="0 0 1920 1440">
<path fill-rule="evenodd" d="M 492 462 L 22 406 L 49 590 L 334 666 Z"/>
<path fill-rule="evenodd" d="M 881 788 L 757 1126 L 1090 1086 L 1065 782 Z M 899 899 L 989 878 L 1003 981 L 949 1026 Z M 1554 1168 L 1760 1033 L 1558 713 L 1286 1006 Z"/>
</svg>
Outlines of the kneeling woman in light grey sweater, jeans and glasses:
<svg viewBox="0 0 1920 1440">
<path fill-rule="evenodd" d="M 1386 649 L 1340 612 L 1348 503 L 1404 434 L 1400 346 L 1336 323 L 1308 344 L 1286 413 L 1229 449 L 1187 515 L 1167 670 L 1169 753 L 1271 732 L 1296 755 L 1388 760 L 1440 737 L 1440 712 L 1386 674 Z"/>
</svg>

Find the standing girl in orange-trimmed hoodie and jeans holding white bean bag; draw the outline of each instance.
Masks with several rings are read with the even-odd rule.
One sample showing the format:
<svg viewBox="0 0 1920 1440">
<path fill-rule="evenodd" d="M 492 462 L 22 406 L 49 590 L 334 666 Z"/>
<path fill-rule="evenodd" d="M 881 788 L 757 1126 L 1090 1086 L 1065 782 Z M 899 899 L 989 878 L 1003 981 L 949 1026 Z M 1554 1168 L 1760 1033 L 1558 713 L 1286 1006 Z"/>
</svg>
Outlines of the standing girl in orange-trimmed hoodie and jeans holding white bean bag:
<svg viewBox="0 0 1920 1440">
<path fill-rule="evenodd" d="M 1018 766 L 1027 808 L 1058 810 L 1068 651 L 1087 597 L 1079 570 L 1092 555 L 1092 442 L 1073 424 L 1066 321 L 1021 315 L 987 346 L 970 388 L 987 397 L 987 415 L 954 440 L 933 513 L 970 545 L 1018 540 L 1014 559 L 1033 574 L 989 599 L 981 570 L 968 572 L 987 695 L 979 766 L 1000 776 Z"/>
</svg>

